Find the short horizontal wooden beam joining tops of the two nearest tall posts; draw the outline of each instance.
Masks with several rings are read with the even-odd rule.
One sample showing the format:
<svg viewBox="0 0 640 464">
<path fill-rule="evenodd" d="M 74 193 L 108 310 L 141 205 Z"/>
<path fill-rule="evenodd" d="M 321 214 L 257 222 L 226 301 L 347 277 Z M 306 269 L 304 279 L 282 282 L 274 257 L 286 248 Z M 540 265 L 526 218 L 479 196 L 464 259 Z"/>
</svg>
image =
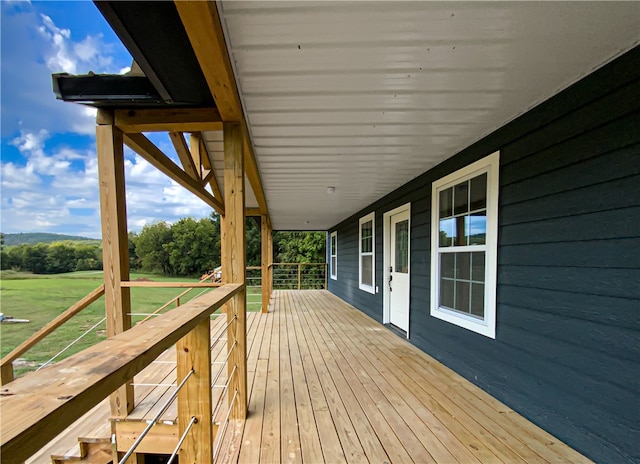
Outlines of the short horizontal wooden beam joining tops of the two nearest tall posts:
<svg viewBox="0 0 640 464">
<path fill-rule="evenodd" d="M 222 129 L 222 118 L 215 108 L 115 110 L 114 123 L 125 134 Z"/>
</svg>

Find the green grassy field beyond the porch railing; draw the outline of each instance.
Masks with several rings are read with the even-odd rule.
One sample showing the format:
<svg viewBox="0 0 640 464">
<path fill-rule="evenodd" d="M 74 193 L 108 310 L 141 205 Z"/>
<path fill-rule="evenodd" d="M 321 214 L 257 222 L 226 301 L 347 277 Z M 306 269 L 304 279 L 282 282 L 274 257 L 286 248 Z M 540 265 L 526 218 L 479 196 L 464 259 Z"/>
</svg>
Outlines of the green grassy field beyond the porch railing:
<svg viewBox="0 0 640 464">
<path fill-rule="evenodd" d="M 137 278 L 165 282 L 197 282 L 197 279 L 136 273 L 131 275 L 132 280 Z M 101 271 L 83 271 L 46 276 L 2 271 L 0 273 L 0 311 L 5 316 L 29 319 L 30 322 L 26 324 L 0 324 L 1 355 L 8 354 L 47 322 L 100 286 L 100 284 L 102 284 Z M 186 289 L 132 288 L 132 312 L 150 313 L 184 290 Z M 202 288 L 194 289 L 181 298 L 180 302 L 185 303 L 203 293 L 203 291 L 206 290 Z M 259 293 L 259 287 L 248 289 L 248 310 L 256 311 L 260 309 Z M 16 375 L 37 369 L 41 363 L 48 361 L 82 333 L 98 323 L 104 317 L 104 312 L 104 298 L 100 298 L 42 340 L 38 345 L 27 351 L 22 357 L 23 361 L 14 363 Z M 135 323 L 143 319 L 143 317 L 133 316 L 132 319 Z M 105 337 L 105 324 L 103 322 L 67 350 L 58 360 L 104 340 Z"/>
</svg>

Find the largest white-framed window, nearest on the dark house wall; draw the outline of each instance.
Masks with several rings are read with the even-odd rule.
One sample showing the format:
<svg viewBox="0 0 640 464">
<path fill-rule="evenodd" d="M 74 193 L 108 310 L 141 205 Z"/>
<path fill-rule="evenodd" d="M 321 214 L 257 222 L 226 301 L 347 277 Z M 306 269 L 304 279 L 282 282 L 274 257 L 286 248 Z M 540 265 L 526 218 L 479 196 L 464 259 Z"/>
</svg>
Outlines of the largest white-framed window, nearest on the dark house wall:
<svg viewBox="0 0 640 464">
<path fill-rule="evenodd" d="M 432 186 L 431 315 L 495 338 L 500 154 Z"/>
</svg>

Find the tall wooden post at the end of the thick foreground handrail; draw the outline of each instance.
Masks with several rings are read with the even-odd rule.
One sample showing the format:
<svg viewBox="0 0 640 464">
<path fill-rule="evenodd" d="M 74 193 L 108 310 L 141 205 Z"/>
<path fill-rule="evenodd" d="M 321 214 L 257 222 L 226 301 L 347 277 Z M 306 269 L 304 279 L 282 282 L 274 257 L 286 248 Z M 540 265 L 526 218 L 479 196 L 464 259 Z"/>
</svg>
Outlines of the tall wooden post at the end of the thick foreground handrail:
<svg viewBox="0 0 640 464">
<path fill-rule="evenodd" d="M 242 131 L 238 123 L 224 123 L 224 200 L 226 282 L 245 283 L 246 247 L 244 217 L 244 159 Z M 229 401 L 237 395 L 230 418 L 247 416 L 247 330 L 246 289 L 227 303 L 229 358 Z M 235 347 L 234 347 L 235 345 Z M 232 374 L 236 370 L 235 374 Z M 232 377 L 233 375 L 233 377 Z"/>
</svg>

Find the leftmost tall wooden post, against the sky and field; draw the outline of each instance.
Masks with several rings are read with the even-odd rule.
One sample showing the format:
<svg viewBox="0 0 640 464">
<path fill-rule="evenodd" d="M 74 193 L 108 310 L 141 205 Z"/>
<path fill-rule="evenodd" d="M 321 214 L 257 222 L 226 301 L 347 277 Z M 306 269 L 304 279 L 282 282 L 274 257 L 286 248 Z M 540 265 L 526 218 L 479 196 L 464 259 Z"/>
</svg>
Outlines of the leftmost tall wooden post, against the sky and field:
<svg viewBox="0 0 640 464">
<path fill-rule="evenodd" d="M 113 125 L 113 112 L 98 110 L 97 123 L 107 337 L 113 337 L 131 328 L 130 290 L 120 285 L 129 280 L 123 136 Z M 111 415 L 126 417 L 133 406 L 133 387 L 129 380 L 111 394 Z"/>
</svg>

